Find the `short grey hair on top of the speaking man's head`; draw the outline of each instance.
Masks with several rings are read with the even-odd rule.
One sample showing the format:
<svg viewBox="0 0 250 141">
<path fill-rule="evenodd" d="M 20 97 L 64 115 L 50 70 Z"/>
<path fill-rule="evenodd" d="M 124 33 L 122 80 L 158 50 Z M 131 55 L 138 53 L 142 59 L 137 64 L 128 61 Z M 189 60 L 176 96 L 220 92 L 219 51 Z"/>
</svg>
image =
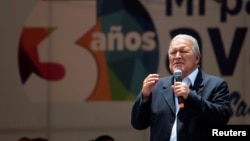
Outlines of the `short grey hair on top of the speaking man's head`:
<svg viewBox="0 0 250 141">
<path fill-rule="evenodd" d="M 181 38 L 181 39 L 187 39 L 187 40 L 191 41 L 192 44 L 193 44 L 193 51 L 194 51 L 195 55 L 200 54 L 200 48 L 199 48 L 198 42 L 197 42 L 197 40 L 196 40 L 193 36 L 191 36 L 191 35 L 187 35 L 187 34 L 178 34 L 178 35 L 174 36 L 174 38 L 171 40 L 170 45 L 172 44 L 173 41 L 175 41 L 176 39 L 180 39 L 180 38 Z M 170 46 L 170 45 L 169 45 L 169 46 Z"/>
</svg>

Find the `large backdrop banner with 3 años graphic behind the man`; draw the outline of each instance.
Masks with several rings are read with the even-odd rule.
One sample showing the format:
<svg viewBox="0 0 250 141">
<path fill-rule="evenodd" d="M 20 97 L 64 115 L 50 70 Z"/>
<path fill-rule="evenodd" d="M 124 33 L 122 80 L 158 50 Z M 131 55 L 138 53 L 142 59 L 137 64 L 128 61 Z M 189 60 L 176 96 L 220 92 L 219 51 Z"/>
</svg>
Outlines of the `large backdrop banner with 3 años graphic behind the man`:
<svg viewBox="0 0 250 141">
<path fill-rule="evenodd" d="M 179 33 L 196 37 L 201 68 L 228 82 L 229 124 L 250 124 L 248 0 L 27 0 L 15 13 L 0 3 L 0 140 L 69 139 L 61 128 L 134 134 L 133 101 L 149 73 L 170 75 L 167 49 Z"/>
</svg>

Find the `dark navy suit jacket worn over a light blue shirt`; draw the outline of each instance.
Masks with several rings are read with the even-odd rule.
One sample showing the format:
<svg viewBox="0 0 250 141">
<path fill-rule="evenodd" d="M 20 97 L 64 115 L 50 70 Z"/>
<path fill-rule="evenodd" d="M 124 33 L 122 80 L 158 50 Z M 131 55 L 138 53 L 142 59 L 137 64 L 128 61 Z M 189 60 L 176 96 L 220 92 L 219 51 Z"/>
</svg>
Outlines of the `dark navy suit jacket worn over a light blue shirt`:
<svg viewBox="0 0 250 141">
<path fill-rule="evenodd" d="M 173 76 L 161 78 L 149 99 L 139 93 L 133 105 L 131 124 L 138 130 L 150 127 L 151 141 L 169 141 L 176 110 L 173 83 Z M 206 141 L 210 127 L 226 125 L 231 117 L 228 85 L 199 69 L 191 89 L 177 115 L 177 140 Z"/>
</svg>

